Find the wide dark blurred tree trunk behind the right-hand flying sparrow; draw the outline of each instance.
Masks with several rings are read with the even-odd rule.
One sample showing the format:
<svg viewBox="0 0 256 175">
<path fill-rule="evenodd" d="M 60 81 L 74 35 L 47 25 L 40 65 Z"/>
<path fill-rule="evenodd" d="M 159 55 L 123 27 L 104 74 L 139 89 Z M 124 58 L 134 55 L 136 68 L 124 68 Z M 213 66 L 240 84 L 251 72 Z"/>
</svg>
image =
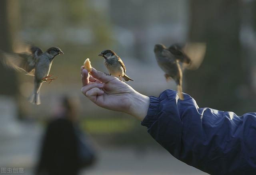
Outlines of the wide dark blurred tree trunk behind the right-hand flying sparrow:
<svg viewBox="0 0 256 175">
<path fill-rule="evenodd" d="M 201 67 L 185 73 L 185 92 L 200 107 L 241 114 L 246 69 L 239 41 L 239 2 L 190 1 L 190 41 L 206 42 L 207 51 Z"/>
</svg>

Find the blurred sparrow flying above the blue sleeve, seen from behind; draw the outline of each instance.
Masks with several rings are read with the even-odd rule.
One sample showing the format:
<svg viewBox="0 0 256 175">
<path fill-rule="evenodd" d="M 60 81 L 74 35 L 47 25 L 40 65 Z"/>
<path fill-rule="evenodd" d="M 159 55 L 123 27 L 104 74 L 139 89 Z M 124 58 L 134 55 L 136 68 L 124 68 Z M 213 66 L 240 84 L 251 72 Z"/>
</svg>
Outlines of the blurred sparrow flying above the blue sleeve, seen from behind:
<svg viewBox="0 0 256 175">
<path fill-rule="evenodd" d="M 202 63 L 205 50 L 206 45 L 204 43 L 190 43 L 185 47 L 173 44 L 169 48 L 162 44 L 156 44 L 154 47 L 156 61 L 165 72 L 166 81 L 174 79 L 181 100 L 184 100 L 182 94 L 182 70 L 184 68 L 197 69 Z M 192 54 L 193 52 L 194 54 Z"/>
</svg>

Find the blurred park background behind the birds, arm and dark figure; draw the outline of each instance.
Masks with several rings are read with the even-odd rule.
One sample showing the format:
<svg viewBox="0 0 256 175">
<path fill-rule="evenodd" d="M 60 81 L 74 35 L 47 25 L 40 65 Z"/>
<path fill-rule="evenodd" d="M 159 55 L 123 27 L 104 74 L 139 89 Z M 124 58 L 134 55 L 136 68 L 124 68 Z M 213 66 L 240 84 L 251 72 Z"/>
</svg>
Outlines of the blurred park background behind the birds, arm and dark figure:
<svg viewBox="0 0 256 175">
<path fill-rule="evenodd" d="M 204 175 L 172 157 L 140 122 L 97 107 L 80 92 L 80 67 L 86 58 L 106 72 L 103 49 L 124 61 L 128 82 L 138 92 L 158 96 L 175 89 L 154 58 L 154 44 L 206 42 L 205 59 L 196 71 L 184 72 L 184 92 L 199 107 L 255 112 L 255 0 L 0 0 L 0 49 L 22 52 L 22 43 L 64 55 L 50 73 L 58 80 L 41 88 L 41 105 L 28 98 L 33 77 L 0 65 L 0 167 L 34 174 L 42 138 L 56 117 L 63 96 L 78 100 L 80 128 L 87 132 L 97 160 L 86 175 Z M 16 173 L 17 174 L 17 173 Z"/>
</svg>

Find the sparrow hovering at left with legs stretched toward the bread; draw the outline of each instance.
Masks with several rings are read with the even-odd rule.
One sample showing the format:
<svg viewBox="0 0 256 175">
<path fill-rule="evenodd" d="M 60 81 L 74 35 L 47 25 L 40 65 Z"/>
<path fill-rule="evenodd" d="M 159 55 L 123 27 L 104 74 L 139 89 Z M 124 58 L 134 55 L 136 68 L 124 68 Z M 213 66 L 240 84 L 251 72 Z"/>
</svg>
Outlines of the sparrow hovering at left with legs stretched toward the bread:
<svg viewBox="0 0 256 175">
<path fill-rule="evenodd" d="M 29 52 L 22 53 L 6 53 L 0 51 L 1 61 L 8 67 L 12 67 L 17 71 L 23 71 L 26 75 L 34 76 L 34 92 L 30 97 L 30 102 L 40 104 L 40 87 L 46 81 L 55 80 L 57 77 L 49 79 L 52 61 L 56 55 L 64 54 L 58 47 L 51 47 L 46 52 L 31 45 Z"/>
</svg>

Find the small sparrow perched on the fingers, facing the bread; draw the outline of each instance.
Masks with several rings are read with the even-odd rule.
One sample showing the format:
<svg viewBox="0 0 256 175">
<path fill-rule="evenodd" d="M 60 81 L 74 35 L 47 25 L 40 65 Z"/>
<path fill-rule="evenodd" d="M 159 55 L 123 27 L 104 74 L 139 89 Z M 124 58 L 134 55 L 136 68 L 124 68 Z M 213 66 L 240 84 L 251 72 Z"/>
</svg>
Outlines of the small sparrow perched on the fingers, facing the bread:
<svg viewBox="0 0 256 175">
<path fill-rule="evenodd" d="M 125 81 L 133 81 L 130 77 L 128 77 L 125 72 L 126 68 L 124 66 L 124 63 L 116 53 L 114 53 L 110 49 L 106 49 L 102 51 L 98 56 L 104 57 L 104 64 L 108 69 L 108 72 L 110 75 L 113 75 L 115 77 L 119 77 L 119 79 L 122 81 L 122 77 Z"/>
</svg>

